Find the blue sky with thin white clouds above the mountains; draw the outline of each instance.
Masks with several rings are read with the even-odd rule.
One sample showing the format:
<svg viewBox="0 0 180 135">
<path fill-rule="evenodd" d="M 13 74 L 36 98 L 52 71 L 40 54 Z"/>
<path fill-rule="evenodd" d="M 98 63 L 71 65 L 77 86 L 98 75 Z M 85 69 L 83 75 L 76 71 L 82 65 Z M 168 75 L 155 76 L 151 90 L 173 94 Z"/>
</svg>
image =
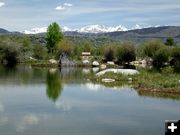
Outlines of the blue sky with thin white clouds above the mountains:
<svg viewBox="0 0 180 135">
<path fill-rule="evenodd" d="M 180 26 L 180 0 L 0 0 L 0 27 Z"/>
</svg>

